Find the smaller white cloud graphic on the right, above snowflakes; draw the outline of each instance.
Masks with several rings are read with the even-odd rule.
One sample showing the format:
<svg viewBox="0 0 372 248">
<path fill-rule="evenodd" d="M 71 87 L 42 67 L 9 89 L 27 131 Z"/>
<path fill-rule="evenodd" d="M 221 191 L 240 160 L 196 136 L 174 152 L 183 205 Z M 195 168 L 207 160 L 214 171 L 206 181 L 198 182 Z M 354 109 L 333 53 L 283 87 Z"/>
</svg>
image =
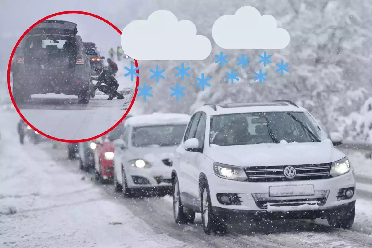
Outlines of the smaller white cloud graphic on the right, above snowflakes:
<svg viewBox="0 0 372 248">
<path fill-rule="evenodd" d="M 224 49 L 283 49 L 289 44 L 289 33 L 277 28 L 273 16 L 261 16 L 251 6 L 235 15 L 219 17 L 212 27 L 212 37 Z"/>
</svg>

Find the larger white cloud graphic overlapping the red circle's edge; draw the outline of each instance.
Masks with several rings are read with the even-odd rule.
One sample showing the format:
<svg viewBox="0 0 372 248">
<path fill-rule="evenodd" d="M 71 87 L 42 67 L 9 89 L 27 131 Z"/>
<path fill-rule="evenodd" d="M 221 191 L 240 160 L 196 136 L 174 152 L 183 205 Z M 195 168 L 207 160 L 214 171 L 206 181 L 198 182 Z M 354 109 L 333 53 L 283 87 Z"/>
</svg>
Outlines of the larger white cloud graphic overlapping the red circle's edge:
<svg viewBox="0 0 372 248">
<path fill-rule="evenodd" d="M 157 10 L 147 20 L 129 23 L 121 35 L 124 52 L 138 60 L 203 60 L 212 51 L 208 38 L 196 35 L 189 20 L 177 20 L 168 10 Z"/>
</svg>

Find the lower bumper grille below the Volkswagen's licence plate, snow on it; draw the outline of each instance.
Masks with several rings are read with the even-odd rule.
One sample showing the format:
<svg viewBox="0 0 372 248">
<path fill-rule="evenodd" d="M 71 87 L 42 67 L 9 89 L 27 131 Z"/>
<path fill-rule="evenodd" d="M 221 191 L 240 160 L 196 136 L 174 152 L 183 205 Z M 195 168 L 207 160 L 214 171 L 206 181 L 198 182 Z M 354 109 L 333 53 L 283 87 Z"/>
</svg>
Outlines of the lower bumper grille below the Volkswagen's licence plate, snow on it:
<svg viewBox="0 0 372 248">
<path fill-rule="evenodd" d="M 267 205 L 272 207 L 292 207 L 307 205 L 323 206 L 327 198 L 312 198 L 312 199 L 294 199 L 294 200 L 257 200 L 257 207 L 260 209 L 267 209 Z"/>
</svg>

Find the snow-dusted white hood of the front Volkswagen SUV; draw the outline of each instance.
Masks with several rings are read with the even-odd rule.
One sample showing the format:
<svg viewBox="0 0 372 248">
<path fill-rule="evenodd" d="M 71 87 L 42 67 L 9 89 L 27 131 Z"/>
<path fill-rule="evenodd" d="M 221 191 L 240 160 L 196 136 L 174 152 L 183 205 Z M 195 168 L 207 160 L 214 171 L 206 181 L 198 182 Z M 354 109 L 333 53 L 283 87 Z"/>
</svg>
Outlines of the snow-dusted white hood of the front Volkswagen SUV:
<svg viewBox="0 0 372 248">
<path fill-rule="evenodd" d="M 322 164 L 345 157 L 345 154 L 334 148 L 330 140 L 237 146 L 212 145 L 206 149 L 205 154 L 215 162 L 244 167 Z"/>
</svg>

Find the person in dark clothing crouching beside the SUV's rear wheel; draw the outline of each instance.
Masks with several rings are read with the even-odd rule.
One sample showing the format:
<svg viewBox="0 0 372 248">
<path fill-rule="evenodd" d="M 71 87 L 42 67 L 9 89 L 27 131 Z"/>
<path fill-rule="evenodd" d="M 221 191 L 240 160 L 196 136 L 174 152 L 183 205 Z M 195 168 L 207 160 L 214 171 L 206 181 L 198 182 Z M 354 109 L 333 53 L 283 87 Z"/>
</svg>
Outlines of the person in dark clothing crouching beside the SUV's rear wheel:
<svg viewBox="0 0 372 248">
<path fill-rule="evenodd" d="M 102 73 L 98 77 L 98 82 L 94 86 L 95 89 L 99 89 L 99 91 L 108 94 L 108 100 L 114 99 L 114 97 L 118 97 L 118 99 L 124 99 L 124 96 L 116 91 L 119 88 L 119 83 L 115 79 L 115 73 L 118 72 L 118 66 L 115 62 L 111 59 L 107 59 L 109 63 L 108 67 L 100 68 L 96 67 L 96 70 L 102 70 Z M 104 84 L 104 85 L 102 85 Z"/>
</svg>

